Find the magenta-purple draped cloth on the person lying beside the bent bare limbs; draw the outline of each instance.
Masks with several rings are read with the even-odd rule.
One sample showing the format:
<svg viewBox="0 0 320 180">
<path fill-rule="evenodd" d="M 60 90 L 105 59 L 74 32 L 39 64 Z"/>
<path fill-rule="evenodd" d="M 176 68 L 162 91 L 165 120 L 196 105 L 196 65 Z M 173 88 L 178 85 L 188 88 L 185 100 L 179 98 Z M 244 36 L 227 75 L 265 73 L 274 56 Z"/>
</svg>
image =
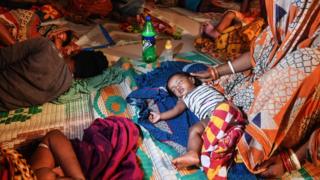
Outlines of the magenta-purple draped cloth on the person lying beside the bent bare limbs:
<svg viewBox="0 0 320 180">
<path fill-rule="evenodd" d="M 136 156 L 139 130 L 127 118 L 96 119 L 72 144 L 86 179 L 143 179 Z"/>
</svg>

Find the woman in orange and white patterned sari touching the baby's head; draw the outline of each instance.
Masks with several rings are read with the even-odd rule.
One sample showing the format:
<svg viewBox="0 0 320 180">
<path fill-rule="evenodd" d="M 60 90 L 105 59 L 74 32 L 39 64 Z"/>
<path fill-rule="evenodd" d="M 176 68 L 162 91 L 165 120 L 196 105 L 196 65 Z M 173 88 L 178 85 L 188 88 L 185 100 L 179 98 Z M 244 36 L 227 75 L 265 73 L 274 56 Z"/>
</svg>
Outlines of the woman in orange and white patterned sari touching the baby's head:
<svg viewBox="0 0 320 180">
<path fill-rule="evenodd" d="M 238 143 L 242 161 L 252 173 L 281 177 L 298 169 L 306 152 L 319 167 L 320 2 L 265 2 L 269 26 L 250 53 L 209 69 L 211 76 L 194 75 L 223 76 L 217 87 L 249 120 Z"/>
</svg>

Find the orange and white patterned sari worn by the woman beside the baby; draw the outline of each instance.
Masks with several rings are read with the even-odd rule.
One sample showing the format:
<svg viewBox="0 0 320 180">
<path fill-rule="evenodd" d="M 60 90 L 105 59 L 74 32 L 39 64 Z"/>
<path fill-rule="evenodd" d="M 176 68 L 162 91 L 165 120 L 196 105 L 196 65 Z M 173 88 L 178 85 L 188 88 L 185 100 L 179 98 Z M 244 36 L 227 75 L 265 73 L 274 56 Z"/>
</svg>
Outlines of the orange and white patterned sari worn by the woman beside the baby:
<svg viewBox="0 0 320 180">
<path fill-rule="evenodd" d="M 266 6 L 269 27 L 252 46 L 254 70 L 246 81 L 253 95 L 250 123 L 238 144 L 255 173 L 279 148 L 299 145 L 320 119 L 320 51 L 312 41 L 319 37 L 320 2 L 272 0 Z"/>
</svg>

